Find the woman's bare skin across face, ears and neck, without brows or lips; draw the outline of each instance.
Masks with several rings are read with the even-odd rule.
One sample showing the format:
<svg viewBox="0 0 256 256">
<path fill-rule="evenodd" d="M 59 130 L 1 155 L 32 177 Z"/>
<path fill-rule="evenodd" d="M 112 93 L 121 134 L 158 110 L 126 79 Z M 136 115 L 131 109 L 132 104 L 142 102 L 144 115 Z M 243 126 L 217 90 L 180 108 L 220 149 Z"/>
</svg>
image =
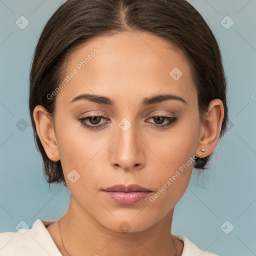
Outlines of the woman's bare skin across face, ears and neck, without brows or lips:
<svg viewBox="0 0 256 256">
<path fill-rule="evenodd" d="M 45 152 L 51 160 L 61 160 L 70 190 L 68 210 L 60 218 L 64 247 L 71 255 L 181 255 L 183 242 L 170 233 L 171 222 L 193 164 L 153 202 L 147 197 L 121 205 L 100 189 L 136 183 L 154 194 L 196 152 L 198 157 L 209 155 L 221 129 L 222 101 L 212 100 L 200 121 L 187 58 L 148 33 L 126 31 L 90 40 L 70 56 L 66 74 L 94 48 L 99 53 L 57 93 L 54 119 L 41 105 L 33 112 Z M 183 73 L 177 80 L 169 75 L 174 67 Z M 103 95 L 115 104 L 87 99 L 70 103 L 81 93 Z M 144 97 L 163 93 L 180 96 L 186 103 L 172 99 L 141 106 Z M 90 119 L 85 121 L 88 125 L 106 125 L 91 130 L 76 119 L 89 114 L 106 119 L 95 124 Z M 159 114 L 175 116 L 177 121 L 167 128 L 157 127 L 160 121 L 150 117 Z M 126 131 L 118 126 L 123 118 L 131 124 Z M 205 152 L 200 152 L 201 148 Z M 67 178 L 72 169 L 80 175 L 74 183 Z M 126 233 L 118 228 L 123 221 L 129 225 Z M 68 255 L 58 222 L 47 230 L 60 252 Z"/>
</svg>

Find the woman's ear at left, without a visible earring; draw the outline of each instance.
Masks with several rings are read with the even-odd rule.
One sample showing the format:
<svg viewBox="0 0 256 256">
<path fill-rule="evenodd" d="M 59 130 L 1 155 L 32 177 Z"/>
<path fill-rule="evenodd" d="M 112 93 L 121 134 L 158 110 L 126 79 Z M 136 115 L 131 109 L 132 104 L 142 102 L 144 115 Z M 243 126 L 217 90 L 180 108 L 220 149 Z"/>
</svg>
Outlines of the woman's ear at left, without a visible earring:
<svg viewBox="0 0 256 256">
<path fill-rule="evenodd" d="M 60 157 L 52 118 L 42 105 L 35 106 L 33 110 L 33 118 L 36 125 L 36 132 L 40 138 L 45 153 L 50 160 L 58 161 Z"/>
</svg>

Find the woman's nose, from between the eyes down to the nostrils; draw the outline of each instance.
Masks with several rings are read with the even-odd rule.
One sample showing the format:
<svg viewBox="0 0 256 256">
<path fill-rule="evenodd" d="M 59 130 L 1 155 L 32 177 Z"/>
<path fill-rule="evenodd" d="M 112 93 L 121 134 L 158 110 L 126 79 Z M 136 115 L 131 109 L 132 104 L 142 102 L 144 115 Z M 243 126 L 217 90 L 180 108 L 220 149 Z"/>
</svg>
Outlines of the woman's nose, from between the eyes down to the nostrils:
<svg viewBox="0 0 256 256">
<path fill-rule="evenodd" d="M 127 119 L 118 124 L 111 147 L 110 163 L 114 168 L 132 171 L 144 166 L 143 143 L 135 124 L 131 125 Z"/>
</svg>

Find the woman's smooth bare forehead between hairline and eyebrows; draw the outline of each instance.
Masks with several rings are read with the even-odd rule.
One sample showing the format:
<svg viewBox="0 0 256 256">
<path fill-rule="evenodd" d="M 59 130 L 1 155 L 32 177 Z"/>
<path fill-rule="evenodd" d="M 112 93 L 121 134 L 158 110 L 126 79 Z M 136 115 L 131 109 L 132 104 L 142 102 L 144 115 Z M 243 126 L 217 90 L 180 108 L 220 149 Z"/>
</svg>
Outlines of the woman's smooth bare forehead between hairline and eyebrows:
<svg viewBox="0 0 256 256">
<path fill-rule="evenodd" d="M 74 70 L 76 74 L 57 98 L 62 95 L 70 102 L 79 93 L 112 98 L 118 92 L 125 98 L 123 92 L 148 96 L 159 90 L 187 97 L 196 94 L 185 54 L 174 44 L 144 32 L 126 31 L 89 40 L 67 59 L 65 74 Z"/>
</svg>

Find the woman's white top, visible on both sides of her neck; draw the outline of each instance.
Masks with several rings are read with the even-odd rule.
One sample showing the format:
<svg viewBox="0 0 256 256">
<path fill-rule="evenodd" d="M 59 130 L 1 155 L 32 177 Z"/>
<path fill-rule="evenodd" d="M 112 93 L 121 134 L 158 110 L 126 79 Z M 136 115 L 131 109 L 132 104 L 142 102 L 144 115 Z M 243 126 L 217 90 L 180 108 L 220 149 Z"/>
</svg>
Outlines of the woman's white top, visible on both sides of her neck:
<svg viewBox="0 0 256 256">
<path fill-rule="evenodd" d="M 0 255 L 62 256 L 45 227 L 54 221 L 36 219 L 30 229 L 21 228 L 16 232 L 0 233 Z M 173 235 L 184 243 L 181 256 L 218 256 L 214 253 L 200 250 L 185 236 Z"/>
</svg>

